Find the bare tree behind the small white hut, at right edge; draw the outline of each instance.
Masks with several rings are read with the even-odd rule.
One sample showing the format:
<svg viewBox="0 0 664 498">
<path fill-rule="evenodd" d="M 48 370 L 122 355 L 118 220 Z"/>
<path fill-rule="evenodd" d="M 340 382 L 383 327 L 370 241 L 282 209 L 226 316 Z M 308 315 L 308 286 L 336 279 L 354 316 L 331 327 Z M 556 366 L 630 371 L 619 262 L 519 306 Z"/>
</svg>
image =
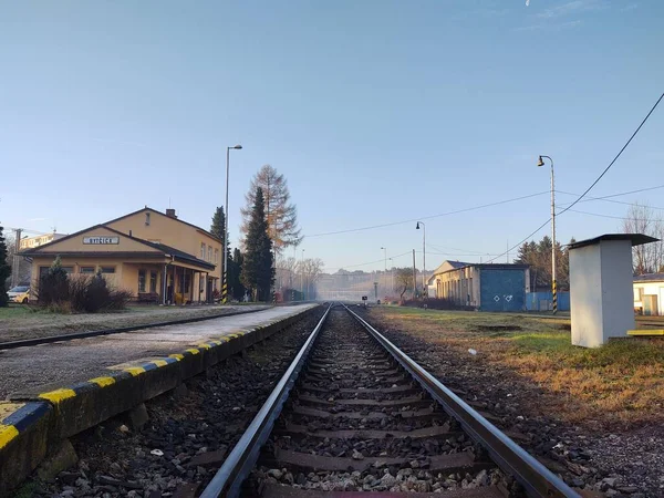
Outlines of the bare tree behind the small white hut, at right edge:
<svg viewBox="0 0 664 498">
<path fill-rule="evenodd" d="M 632 249 L 634 274 L 664 271 L 664 221 L 647 205 L 630 206 L 622 226 L 625 234 L 644 234 L 660 239 Z"/>
</svg>

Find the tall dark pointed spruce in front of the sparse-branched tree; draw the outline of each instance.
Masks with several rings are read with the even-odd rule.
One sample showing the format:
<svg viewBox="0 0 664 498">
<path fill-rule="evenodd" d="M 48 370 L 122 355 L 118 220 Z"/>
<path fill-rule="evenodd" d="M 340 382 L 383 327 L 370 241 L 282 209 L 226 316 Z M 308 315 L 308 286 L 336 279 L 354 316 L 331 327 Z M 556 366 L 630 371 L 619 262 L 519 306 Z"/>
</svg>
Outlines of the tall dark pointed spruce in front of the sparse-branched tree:
<svg viewBox="0 0 664 498">
<path fill-rule="evenodd" d="M 272 267 L 272 240 L 268 236 L 266 205 L 262 188 L 257 187 L 247 238 L 241 281 L 251 289 L 255 301 L 268 301 L 274 281 Z"/>
</svg>

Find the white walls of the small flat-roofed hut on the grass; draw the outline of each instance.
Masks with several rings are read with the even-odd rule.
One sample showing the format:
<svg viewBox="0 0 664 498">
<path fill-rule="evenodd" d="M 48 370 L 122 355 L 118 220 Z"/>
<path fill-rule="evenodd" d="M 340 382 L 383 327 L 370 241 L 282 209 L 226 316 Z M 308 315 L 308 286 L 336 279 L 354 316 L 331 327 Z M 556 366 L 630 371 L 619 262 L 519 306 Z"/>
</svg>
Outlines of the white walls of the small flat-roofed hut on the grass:
<svg viewBox="0 0 664 498">
<path fill-rule="evenodd" d="M 634 329 L 632 243 L 602 240 L 570 250 L 572 344 L 596 347 Z"/>
</svg>

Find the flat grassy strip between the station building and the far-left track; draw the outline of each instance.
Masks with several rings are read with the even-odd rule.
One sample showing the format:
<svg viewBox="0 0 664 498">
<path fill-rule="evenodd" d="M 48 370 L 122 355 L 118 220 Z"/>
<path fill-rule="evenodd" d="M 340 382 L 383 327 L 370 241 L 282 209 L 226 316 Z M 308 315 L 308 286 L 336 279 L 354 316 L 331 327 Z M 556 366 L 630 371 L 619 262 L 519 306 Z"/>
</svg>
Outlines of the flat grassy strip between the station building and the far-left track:
<svg viewBox="0 0 664 498">
<path fill-rule="evenodd" d="M 238 311 L 271 308 L 266 304 L 206 305 L 206 307 L 129 307 L 126 311 L 94 314 L 59 314 L 32 311 L 28 307 L 12 307 L 0 315 L 0 343 L 25 339 L 48 338 L 91 330 L 155 323 L 201 317 L 224 317 Z"/>
</svg>

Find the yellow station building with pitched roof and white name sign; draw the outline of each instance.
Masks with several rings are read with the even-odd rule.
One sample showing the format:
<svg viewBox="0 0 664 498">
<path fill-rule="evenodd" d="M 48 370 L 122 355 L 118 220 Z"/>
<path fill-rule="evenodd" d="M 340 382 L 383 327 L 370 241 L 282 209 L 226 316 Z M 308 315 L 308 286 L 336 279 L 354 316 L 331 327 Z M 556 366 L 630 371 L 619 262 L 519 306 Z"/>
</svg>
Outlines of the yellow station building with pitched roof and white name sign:
<svg viewBox="0 0 664 498">
<path fill-rule="evenodd" d="M 145 207 L 21 256 L 32 259 L 32 289 L 38 292 L 40 277 L 59 256 L 68 273 L 101 270 L 110 284 L 138 301 L 211 302 L 221 289 L 221 240 L 178 219 L 175 209 L 164 214 Z"/>
</svg>

